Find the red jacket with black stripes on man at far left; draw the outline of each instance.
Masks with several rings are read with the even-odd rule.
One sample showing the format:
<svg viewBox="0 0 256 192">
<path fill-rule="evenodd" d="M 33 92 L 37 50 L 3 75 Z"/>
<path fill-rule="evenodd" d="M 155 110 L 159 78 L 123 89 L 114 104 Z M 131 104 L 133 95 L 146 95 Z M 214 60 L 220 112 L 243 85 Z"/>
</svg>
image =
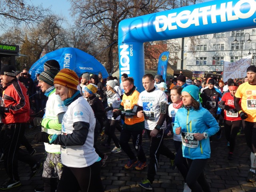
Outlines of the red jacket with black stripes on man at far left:
<svg viewBox="0 0 256 192">
<path fill-rule="evenodd" d="M 12 80 L 4 90 L 1 106 L 9 109 L 2 118 L 4 124 L 25 123 L 30 118 L 30 105 L 25 86 L 17 79 Z"/>
</svg>

